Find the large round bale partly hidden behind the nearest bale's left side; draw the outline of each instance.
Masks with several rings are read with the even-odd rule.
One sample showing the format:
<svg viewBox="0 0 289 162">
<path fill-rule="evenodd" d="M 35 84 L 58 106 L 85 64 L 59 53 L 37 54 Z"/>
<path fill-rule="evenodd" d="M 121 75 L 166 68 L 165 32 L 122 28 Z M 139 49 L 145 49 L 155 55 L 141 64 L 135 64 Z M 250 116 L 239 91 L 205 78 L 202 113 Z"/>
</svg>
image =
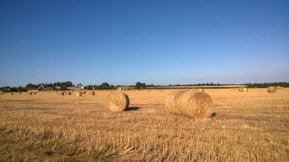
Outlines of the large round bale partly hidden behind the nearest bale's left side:
<svg viewBox="0 0 289 162">
<path fill-rule="evenodd" d="M 174 91 L 174 92 L 170 92 L 165 99 L 164 102 L 164 106 L 166 107 L 166 109 L 175 115 L 180 115 L 181 113 L 179 113 L 178 109 L 177 109 L 177 100 L 179 99 L 179 97 L 181 96 L 181 94 L 183 94 L 186 91 Z"/>
</svg>

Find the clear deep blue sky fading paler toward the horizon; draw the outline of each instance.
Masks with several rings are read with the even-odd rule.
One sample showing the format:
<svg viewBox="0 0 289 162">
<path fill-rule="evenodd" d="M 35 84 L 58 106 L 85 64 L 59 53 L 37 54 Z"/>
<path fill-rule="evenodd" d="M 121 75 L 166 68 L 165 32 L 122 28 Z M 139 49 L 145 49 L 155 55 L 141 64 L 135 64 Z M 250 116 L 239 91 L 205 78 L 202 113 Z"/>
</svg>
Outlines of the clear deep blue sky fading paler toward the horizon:
<svg viewBox="0 0 289 162">
<path fill-rule="evenodd" d="M 289 82 L 289 1 L 0 1 L 0 87 Z"/>
</svg>

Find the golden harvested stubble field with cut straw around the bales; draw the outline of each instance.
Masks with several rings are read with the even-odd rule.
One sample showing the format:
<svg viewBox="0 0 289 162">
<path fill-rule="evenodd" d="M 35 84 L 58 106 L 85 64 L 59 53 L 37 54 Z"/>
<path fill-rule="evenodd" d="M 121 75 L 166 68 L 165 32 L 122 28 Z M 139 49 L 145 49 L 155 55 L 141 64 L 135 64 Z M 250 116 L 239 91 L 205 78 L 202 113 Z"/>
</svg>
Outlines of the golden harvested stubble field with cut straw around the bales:
<svg viewBox="0 0 289 162">
<path fill-rule="evenodd" d="M 129 110 L 104 106 L 110 92 L 0 95 L 0 161 L 289 161 L 289 88 L 204 89 L 216 116 L 168 113 L 172 90 L 125 92 Z"/>
</svg>

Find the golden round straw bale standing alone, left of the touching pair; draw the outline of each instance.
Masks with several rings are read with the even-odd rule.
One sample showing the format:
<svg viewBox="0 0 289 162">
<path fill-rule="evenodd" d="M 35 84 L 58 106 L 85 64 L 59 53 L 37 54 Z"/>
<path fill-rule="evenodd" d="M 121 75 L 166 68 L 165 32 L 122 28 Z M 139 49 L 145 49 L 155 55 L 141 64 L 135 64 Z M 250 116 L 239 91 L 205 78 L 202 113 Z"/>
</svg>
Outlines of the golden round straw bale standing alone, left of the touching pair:
<svg viewBox="0 0 289 162">
<path fill-rule="evenodd" d="M 113 112 L 120 112 L 128 108 L 129 98 L 124 92 L 112 92 L 105 98 L 105 107 Z"/>
</svg>

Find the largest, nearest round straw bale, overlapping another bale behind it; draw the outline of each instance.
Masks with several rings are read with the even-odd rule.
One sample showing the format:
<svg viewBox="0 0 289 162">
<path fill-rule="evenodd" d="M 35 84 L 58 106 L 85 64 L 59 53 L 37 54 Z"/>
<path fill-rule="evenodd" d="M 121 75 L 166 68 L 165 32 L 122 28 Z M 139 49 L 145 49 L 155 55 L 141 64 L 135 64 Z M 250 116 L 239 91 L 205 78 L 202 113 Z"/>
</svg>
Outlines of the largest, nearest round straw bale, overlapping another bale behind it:
<svg viewBox="0 0 289 162">
<path fill-rule="evenodd" d="M 213 100 L 210 95 L 199 91 L 186 91 L 177 100 L 177 110 L 186 117 L 208 118 L 213 113 Z"/>
</svg>

